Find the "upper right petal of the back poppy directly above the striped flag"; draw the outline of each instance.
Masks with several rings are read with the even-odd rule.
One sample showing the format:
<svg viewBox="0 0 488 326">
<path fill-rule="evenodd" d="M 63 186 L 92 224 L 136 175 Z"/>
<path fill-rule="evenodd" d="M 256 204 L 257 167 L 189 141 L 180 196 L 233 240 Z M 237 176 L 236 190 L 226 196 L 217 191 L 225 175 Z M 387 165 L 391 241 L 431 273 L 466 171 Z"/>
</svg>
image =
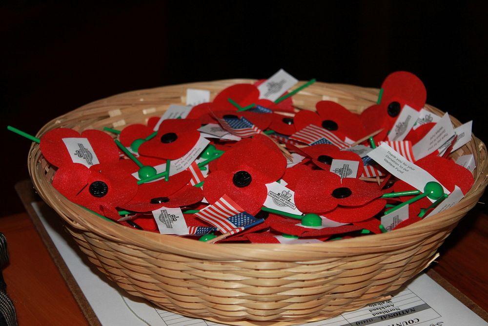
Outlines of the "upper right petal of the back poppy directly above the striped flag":
<svg viewBox="0 0 488 326">
<path fill-rule="evenodd" d="M 358 140 L 366 135 L 366 130 L 359 115 L 352 113 L 342 105 L 332 101 L 320 101 L 315 105 L 320 116 L 320 123 L 324 120 L 332 120 L 337 123 L 337 131 L 350 139 Z"/>
</svg>

